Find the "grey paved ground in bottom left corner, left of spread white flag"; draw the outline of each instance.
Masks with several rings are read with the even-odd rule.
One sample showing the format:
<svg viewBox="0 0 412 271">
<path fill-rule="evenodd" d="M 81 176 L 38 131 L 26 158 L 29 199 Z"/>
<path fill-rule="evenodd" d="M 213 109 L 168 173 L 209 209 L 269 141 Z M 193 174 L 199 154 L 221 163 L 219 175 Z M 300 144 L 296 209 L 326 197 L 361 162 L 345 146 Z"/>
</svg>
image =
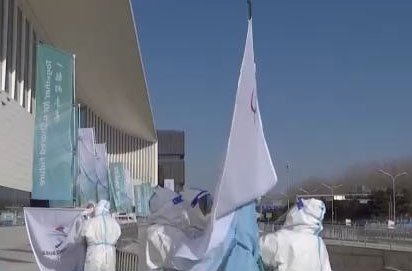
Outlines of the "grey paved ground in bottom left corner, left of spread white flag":
<svg viewBox="0 0 412 271">
<path fill-rule="evenodd" d="M 0 271 L 38 271 L 25 227 L 0 227 Z"/>
</svg>

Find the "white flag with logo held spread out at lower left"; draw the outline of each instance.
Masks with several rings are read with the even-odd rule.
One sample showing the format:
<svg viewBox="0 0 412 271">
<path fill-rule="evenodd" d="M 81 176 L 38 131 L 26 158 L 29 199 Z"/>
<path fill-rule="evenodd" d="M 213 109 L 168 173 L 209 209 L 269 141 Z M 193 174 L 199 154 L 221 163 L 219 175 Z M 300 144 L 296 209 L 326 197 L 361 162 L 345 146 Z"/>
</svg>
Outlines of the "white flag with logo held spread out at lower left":
<svg viewBox="0 0 412 271">
<path fill-rule="evenodd" d="M 40 271 L 82 271 L 86 243 L 82 209 L 24 208 L 30 244 Z"/>
</svg>

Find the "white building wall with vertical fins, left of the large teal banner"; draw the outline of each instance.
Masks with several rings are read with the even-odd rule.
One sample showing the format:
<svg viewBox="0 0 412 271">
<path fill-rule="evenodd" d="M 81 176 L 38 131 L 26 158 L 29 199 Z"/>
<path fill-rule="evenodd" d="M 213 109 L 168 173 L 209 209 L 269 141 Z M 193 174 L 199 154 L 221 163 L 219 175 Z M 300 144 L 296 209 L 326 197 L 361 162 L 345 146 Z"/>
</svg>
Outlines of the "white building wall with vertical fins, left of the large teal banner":
<svg viewBox="0 0 412 271">
<path fill-rule="evenodd" d="M 0 0 L 0 185 L 32 187 L 36 33 L 14 0 Z"/>
</svg>

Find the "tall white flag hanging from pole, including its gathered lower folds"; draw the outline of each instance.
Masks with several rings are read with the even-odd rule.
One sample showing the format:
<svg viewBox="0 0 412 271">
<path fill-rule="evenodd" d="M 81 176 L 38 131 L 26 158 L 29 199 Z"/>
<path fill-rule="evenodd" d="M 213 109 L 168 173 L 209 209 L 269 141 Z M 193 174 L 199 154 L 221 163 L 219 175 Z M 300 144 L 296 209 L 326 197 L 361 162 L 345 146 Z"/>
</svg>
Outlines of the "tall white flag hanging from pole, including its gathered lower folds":
<svg viewBox="0 0 412 271">
<path fill-rule="evenodd" d="M 181 267 L 179 270 L 217 270 L 233 241 L 231 238 L 236 235 L 235 229 L 242 219 L 247 219 L 244 214 L 240 219 L 239 213 L 248 210 L 248 203 L 276 185 L 256 91 L 252 20 L 249 20 L 226 160 L 215 193 L 212 219 L 200 238 L 185 241 L 176 238 L 179 244 L 172 262 Z M 254 213 L 250 219 L 255 221 Z"/>
</svg>

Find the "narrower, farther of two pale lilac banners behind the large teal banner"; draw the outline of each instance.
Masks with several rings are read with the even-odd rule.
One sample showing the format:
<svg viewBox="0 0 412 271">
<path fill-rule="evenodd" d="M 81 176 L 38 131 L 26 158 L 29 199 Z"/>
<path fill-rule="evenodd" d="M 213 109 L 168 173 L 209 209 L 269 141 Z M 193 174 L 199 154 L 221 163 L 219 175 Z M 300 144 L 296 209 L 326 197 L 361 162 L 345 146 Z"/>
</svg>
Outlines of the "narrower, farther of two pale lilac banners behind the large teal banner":
<svg viewBox="0 0 412 271">
<path fill-rule="evenodd" d="M 98 200 L 110 200 L 109 195 L 109 171 L 107 167 L 107 149 L 106 144 L 96 144 L 96 173 L 98 178 L 97 197 Z"/>
</svg>

